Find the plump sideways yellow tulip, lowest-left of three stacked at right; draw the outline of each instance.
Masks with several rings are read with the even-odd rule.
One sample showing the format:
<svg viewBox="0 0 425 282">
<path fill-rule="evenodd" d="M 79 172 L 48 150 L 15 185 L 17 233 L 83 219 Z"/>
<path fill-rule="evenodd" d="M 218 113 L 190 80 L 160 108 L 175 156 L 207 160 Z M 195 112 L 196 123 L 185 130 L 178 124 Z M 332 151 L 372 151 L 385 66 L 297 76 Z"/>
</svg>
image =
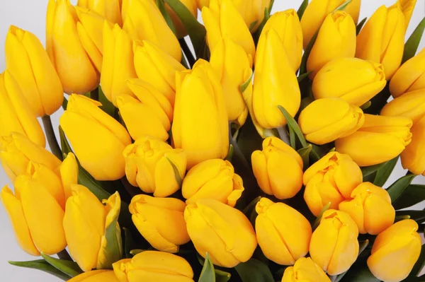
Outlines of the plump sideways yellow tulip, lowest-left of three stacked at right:
<svg viewBox="0 0 425 282">
<path fill-rule="evenodd" d="M 298 118 L 305 139 L 317 145 L 353 134 L 364 122 L 360 107 L 339 98 L 315 100 L 302 110 Z"/>
</svg>

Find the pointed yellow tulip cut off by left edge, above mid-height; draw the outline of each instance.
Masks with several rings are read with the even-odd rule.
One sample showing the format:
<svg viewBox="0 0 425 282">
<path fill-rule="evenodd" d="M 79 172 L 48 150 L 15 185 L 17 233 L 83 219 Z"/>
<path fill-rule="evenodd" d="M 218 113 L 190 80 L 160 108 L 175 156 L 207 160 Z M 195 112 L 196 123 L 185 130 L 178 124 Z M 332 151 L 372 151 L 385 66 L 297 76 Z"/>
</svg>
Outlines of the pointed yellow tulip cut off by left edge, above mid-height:
<svg viewBox="0 0 425 282">
<path fill-rule="evenodd" d="M 44 147 L 45 135 L 23 96 L 18 83 L 8 71 L 0 74 L 0 136 L 8 136 L 13 132 L 22 134 L 30 141 Z"/>
</svg>

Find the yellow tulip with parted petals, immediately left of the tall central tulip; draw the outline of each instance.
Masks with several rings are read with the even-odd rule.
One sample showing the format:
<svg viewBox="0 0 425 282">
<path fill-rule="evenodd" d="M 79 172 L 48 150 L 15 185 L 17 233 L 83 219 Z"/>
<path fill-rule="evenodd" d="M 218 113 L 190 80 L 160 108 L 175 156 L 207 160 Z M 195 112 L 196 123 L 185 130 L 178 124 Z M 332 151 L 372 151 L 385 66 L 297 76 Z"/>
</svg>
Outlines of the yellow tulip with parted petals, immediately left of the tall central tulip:
<svg viewBox="0 0 425 282">
<path fill-rule="evenodd" d="M 120 95 L 116 101 L 132 139 L 143 136 L 154 136 L 162 141 L 169 139 L 168 131 L 173 119 L 173 107 L 169 100 L 151 84 L 140 79 L 131 78 L 127 86 L 132 95 Z"/>
</svg>

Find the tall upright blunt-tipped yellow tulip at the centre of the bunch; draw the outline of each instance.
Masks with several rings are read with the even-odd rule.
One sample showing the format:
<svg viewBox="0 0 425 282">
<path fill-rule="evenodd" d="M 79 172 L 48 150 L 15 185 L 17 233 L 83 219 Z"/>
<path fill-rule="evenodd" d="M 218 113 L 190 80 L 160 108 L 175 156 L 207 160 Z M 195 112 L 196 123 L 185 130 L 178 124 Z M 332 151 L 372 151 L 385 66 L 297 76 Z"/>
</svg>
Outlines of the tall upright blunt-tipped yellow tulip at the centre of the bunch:
<svg viewBox="0 0 425 282">
<path fill-rule="evenodd" d="M 229 151 L 229 127 L 222 86 L 202 59 L 191 71 L 176 74 L 176 104 L 171 128 L 175 148 L 182 148 L 188 168 Z"/>
</svg>

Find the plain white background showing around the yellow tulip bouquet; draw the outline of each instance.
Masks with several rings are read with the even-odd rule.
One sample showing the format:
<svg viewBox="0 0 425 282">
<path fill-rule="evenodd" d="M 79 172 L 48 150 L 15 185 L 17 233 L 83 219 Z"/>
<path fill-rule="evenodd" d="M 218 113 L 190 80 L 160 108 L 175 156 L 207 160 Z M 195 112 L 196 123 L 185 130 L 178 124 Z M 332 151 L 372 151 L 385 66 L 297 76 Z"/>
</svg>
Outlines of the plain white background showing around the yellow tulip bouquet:
<svg viewBox="0 0 425 282">
<path fill-rule="evenodd" d="M 71 0 L 73 4 L 77 0 Z M 4 71 L 4 40 L 8 31 L 9 25 L 16 25 L 24 30 L 29 30 L 31 33 L 40 38 L 41 42 L 45 42 L 45 13 L 47 7 L 47 0 L 0 0 L 0 72 Z M 283 11 L 287 8 L 297 9 L 302 0 L 276 0 L 273 11 Z M 361 8 L 360 20 L 370 15 L 381 5 L 390 6 L 395 0 L 363 0 Z M 418 25 L 422 18 L 425 16 L 425 1 L 417 0 L 416 8 L 412 16 L 407 36 L 409 36 L 414 28 Z M 424 38 L 421 41 L 419 49 L 425 46 Z M 52 120 L 55 122 L 54 126 L 57 127 L 57 121 L 61 112 L 53 115 Z M 1 116 L 0 116 L 1 118 Z M 395 172 L 388 180 L 387 185 L 397 180 L 399 177 L 405 175 L 405 171 L 400 164 L 397 164 Z M 0 188 L 8 184 L 8 178 L 0 168 Z M 416 177 L 416 183 L 425 184 L 425 177 Z M 424 206 L 422 204 L 421 206 Z M 12 261 L 25 261 L 37 259 L 31 257 L 23 252 L 16 243 L 16 240 L 11 229 L 11 225 L 4 211 L 4 207 L 0 204 L 0 281 L 45 281 L 57 282 L 60 279 L 54 278 L 48 274 L 40 271 L 30 269 L 18 269 L 16 266 L 11 266 L 7 262 Z"/>
</svg>

